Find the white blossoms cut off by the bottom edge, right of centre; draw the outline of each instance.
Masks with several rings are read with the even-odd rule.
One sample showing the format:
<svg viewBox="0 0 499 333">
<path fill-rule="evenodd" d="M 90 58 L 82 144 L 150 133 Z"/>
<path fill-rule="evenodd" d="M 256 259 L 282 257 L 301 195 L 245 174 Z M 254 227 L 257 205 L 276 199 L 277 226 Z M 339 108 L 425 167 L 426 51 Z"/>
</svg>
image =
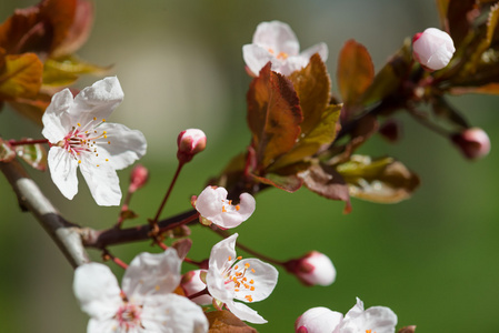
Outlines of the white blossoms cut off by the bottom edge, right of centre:
<svg viewBox="0 0 499 333">
<path fill-rule="evenodd" d="M 363 303 L 357 299 L 357 304 L 345 317 L 336 311 L 325 307 L 313 307 L 306 311 L 295 323 L 297 333 L 395 333 L 397 315 L 389 307 L 371 306 L 363 309 Z"/>
</svg>

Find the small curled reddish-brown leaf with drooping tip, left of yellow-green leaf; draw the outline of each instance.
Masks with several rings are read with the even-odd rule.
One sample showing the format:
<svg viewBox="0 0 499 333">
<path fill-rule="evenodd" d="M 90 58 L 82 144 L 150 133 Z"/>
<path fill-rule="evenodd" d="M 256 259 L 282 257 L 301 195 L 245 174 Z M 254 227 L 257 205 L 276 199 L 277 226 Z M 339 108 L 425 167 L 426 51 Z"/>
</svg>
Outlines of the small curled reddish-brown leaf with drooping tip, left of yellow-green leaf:
<svg viewBox="0 0 499 333">
<path fill-rule="evenodd" d="M 325 163 L 312 164 L 299 175 L 307 189 L 327 199 L 345 201 L 343 212 L 351 211 L 348 185 L 335 168 Z"/>
</svg>

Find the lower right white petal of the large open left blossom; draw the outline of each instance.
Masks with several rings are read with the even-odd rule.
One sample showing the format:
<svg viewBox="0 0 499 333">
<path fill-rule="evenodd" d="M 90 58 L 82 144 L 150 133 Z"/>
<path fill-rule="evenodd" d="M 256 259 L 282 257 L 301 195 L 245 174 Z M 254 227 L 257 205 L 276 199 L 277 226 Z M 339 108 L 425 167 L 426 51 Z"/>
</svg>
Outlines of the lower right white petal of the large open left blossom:
<svg viewBox="0 0 499 333">
<path fill-rule="evenodd" d="M 120 180 L 116 170 L 102 159 L 106 151 L 100 151 L 99 159 L 82 157 L 80 171 L 99 205 L 119 205 L 121 201 Z M 97 167 L 99 165 L 99 167 Z"/>
</svg>

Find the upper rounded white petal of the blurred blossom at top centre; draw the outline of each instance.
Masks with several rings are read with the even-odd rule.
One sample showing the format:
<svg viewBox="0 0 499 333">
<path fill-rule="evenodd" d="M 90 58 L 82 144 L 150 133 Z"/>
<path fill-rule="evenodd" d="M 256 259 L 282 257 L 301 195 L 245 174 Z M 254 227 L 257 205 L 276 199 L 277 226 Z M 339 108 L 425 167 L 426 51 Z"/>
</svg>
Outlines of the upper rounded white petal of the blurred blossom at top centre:
<svg viewBox="0 0 499 333">
<path fill-rule="evenodd" d="M 276 54 L 285 52 L 289 56 L 297 56 L 300 51 L 300 43 L 295 32 L 287 23 L 279 21 L 258 24 L 253 34 L 253 44 L 272 49 Z"/>
</svg>

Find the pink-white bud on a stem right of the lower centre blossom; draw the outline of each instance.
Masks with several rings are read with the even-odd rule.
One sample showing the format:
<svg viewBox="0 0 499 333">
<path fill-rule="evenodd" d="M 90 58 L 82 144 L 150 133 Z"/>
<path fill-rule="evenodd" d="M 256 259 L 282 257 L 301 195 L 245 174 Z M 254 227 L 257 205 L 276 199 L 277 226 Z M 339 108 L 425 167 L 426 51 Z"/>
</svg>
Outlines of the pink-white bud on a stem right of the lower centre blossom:
<svg viewBox="0 0 499 333">
<path fill-rule="evenodd" d="M 336 269 L 331 260 L 317 251 L 285 263 L 286 270 L 297 275 L 306 285 L 330 285 L 336 280 Z"/>
</svg>

